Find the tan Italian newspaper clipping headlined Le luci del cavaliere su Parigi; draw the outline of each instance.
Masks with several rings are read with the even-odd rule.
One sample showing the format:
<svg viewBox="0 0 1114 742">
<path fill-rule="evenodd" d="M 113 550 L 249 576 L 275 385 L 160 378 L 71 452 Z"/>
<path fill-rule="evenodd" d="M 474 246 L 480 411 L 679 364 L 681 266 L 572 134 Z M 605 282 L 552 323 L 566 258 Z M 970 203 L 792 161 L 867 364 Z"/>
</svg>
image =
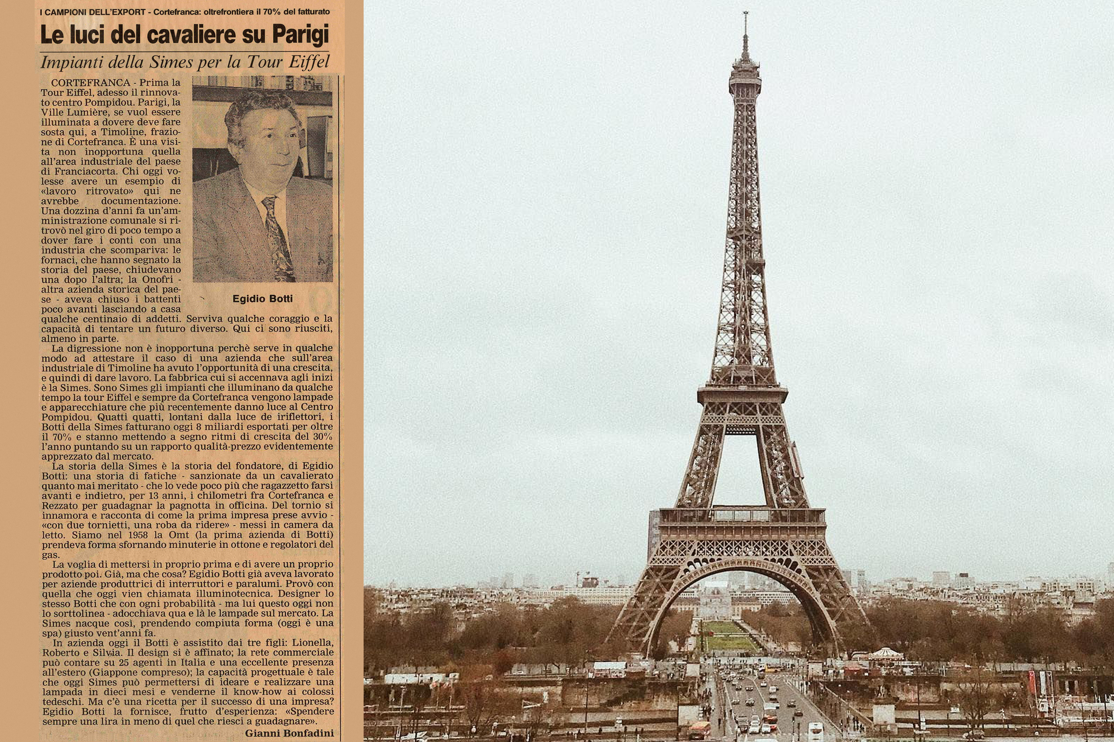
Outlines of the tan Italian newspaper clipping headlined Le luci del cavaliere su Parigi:
<svg viewBox="0 0 1114 742">
<path fill-rule="evenodd" d="M 340 736 L 344 3 L 35 13 L 40 739 Z"/>
</svg>

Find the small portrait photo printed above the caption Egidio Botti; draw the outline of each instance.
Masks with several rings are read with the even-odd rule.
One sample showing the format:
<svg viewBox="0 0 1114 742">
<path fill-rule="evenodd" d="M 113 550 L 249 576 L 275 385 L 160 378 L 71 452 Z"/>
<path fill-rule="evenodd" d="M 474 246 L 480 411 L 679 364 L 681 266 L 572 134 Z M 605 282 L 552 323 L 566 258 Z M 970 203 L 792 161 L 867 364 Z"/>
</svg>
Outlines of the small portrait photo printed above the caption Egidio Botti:
<svg viewBox="0 0 1114 742">
<path fill-rule="evenodd" d="M 333 88 L 194 78 L 194 283 L 332 283 Z"/>
</svg>

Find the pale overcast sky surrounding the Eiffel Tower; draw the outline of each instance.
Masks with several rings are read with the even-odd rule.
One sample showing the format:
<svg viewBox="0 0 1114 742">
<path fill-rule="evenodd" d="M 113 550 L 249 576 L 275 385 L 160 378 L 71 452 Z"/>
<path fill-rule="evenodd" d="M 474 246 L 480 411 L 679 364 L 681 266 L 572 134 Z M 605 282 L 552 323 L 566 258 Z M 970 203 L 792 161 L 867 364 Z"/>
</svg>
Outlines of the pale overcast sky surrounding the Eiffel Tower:
<svg viewBox="0 0 1114 742">
<path fill-rule="evenodd" d="M 1105 573 L 1114 4 L 746 7 L 773 353 L 841 566 Z M 742 9 L 368 6 L 367 582 L 637 577 L 712 359 Z M 729 438 L 716 502 L 760 486 Z"/>
</svg>

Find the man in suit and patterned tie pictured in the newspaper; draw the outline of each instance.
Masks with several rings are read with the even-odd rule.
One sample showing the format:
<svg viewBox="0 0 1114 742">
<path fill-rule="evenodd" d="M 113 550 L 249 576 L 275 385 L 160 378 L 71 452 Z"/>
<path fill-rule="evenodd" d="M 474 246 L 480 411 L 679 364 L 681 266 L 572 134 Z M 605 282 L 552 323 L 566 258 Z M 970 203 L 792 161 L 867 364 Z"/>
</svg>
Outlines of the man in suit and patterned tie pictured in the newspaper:
<svg viewBox="0 0 1114 742">
<path fill-rule="evenodd" d="M 224 122 L 240 167 L 194 184 L 194 281 L 331 283 L 333 192 L 291 177 L 303 136 L 294 101 L 251 90 Z"/>
</svg>

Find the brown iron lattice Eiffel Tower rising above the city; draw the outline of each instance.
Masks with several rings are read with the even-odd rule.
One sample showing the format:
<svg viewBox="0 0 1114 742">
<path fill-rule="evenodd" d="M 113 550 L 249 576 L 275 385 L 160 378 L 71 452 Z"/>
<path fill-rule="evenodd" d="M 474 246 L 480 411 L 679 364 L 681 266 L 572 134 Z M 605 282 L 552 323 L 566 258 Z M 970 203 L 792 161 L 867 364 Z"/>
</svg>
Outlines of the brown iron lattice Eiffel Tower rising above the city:
<svg viewBox="0 0 1114 742">
<path fill-rule="evenodd" d="M 697 581 L 732 570 L 788 587 L 814 639 L 831 649 L 844 649 L 841 635 L 852 625 L 869 625 L 828 548 L 824 511 L 809 507 L 782 413 L 789 393 L 773 366 L 759 209 L 755 100 L 762 80 L 749 44 L 744 26 L 743 53 L 727 83 L 735 109 L 727 236 L 712 374 L 696 392 L 700 427 L 676 506 L 651 512 L 646 568 L 608 636 L 647 654 L 670 604 Z M 712 504 L 726 435 L 756 439 L 764 505 Z"/>
</svg>

